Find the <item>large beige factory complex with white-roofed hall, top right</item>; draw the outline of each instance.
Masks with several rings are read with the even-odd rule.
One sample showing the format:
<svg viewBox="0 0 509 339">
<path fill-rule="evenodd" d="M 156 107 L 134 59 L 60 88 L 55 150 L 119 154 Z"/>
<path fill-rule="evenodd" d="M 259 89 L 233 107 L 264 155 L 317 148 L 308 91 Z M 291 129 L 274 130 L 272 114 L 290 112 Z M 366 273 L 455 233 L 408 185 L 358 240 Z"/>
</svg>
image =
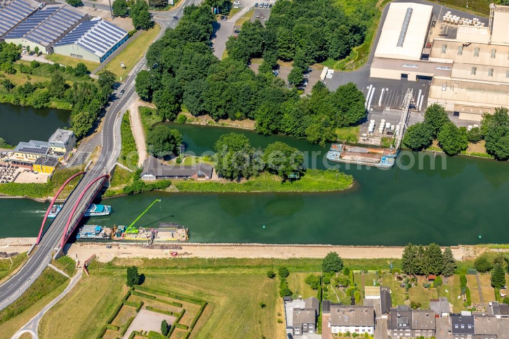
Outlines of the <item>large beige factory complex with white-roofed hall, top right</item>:
<svg viewBox="0 0 509 339">
<path fill-rule="evenodd" d="M 509 107 L 509 6 L 490 10 L 485 24 L 450 12 L 438 17 L 428 5 L 391 3 L 370 76 L 430 80 L 428 105 L 439 103 L 461 120 Z"/>
</svg>

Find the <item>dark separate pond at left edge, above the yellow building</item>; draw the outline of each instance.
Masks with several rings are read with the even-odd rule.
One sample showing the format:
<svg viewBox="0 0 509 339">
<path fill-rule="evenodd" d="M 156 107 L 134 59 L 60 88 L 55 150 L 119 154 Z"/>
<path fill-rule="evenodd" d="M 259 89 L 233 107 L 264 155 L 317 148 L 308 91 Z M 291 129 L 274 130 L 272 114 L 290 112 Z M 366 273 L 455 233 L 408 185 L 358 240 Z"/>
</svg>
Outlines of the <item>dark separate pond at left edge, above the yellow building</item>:
<svg viewBox="0 0 509 339">
<path fill-rule="evenodd" d="M 0 103 L 0 137 L 11 145 L 20 141 L 46 141 L 59 127 L 69 126 L 71 111 L 34 109 Z"/>
</svg>

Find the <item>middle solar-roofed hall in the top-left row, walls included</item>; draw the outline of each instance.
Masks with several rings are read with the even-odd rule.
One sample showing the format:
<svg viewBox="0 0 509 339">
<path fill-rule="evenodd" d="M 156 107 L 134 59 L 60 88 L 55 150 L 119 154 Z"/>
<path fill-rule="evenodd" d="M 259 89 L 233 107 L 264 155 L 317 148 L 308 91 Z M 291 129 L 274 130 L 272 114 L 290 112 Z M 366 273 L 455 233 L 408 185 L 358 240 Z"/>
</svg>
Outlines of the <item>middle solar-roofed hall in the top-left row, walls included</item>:
<svg viewBox="0 0 509 339">
<path fill-rule="evenodd" d="M 7 43 L 30 47 L 46 54 L 53 52 L 53 45 L 77 24 L 89 20 L 89 15 L 69 5 L 47 5 L 27 17 L 4 36 Z"/>
</svg>

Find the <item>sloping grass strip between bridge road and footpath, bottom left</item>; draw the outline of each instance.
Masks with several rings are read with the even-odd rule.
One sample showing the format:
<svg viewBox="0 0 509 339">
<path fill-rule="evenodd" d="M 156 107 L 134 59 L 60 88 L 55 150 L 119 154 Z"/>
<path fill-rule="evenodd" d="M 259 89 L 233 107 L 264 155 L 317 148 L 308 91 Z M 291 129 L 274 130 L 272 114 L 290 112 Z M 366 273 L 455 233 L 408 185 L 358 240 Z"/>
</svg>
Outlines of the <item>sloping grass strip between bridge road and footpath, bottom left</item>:
<svg viewBox="0 0 509 339">
<path fill-rule="evenodd" d="M 10 338 L 45 305 L 62 293 L 68 283 L 69 279 L 62 274 L 46 268 L 18 300 L 0 312 L 1 336 Z"/>
</svg>

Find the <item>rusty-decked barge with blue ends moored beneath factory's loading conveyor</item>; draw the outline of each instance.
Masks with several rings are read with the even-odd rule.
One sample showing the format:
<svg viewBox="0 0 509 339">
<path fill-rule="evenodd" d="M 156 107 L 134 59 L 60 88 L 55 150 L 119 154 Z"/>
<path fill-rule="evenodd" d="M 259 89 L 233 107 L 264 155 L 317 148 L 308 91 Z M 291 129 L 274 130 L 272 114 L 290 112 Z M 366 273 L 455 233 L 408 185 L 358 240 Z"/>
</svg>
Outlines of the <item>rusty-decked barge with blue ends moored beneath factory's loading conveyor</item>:
<svg viewBox="0 0 509 339">
<path fill-rule="evenodd" d="M 334 162 L 390 168 L 394 165 L 397 155 L 398 151 L 393 149 L 332 144 L 327 152 L 327 159 Z"/>
</svg>

